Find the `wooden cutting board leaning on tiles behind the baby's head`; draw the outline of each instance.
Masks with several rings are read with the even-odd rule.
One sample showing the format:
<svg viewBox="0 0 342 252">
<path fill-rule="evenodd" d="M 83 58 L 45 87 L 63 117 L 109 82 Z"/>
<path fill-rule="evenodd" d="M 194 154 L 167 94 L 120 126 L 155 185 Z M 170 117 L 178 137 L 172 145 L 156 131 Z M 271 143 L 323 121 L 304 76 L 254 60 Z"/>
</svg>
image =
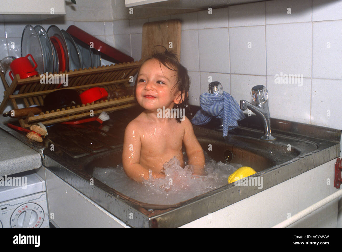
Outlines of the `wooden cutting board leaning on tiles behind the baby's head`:
<svg viewBox="0 0 342 252">
<path fill-rule="evenodd" d="M 182 25 L 179 19 L 148 22 L 143 25 L 142 60 L 154 51 L 163 52 L 165 49 L 173 50 L 181 60 L 181 34 Z M 172 46 L 172 48 L 170 48 Z"/>
</svg>

